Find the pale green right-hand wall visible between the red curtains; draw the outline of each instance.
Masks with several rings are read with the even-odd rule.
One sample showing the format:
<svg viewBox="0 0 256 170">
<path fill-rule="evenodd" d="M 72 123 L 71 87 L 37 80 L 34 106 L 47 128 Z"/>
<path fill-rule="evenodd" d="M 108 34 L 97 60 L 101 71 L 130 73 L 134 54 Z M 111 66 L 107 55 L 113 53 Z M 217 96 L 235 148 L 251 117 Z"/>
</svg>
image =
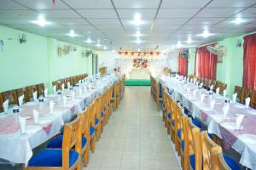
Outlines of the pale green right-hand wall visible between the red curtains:
<svg viewBox="0 0 256 170">
<path fill-rule="evenodd" d="M 226 54 L 223 62 L 217 64 L 216 80 L 227 83 L 230 96 L 233 94 L 235 86 L 242 86 L 244 36 L 229 37 L 218 42 L 226 48 Z M 241 47 L 236 47 L 238 40 L 241 41 Z M 189 75 L 194 74 L 194 67 L 195 48 L 189 48 Z"/>
</svg>

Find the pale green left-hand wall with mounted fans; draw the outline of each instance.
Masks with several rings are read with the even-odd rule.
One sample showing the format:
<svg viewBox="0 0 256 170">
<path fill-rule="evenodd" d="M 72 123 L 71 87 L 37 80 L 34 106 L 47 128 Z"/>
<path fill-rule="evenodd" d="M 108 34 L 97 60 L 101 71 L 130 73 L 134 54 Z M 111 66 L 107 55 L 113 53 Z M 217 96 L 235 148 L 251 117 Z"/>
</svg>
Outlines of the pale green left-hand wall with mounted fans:
<svg viewBox="0 0 256 170">
<path fill-rule="evenodd" d="M 22 34 L 26 34 L 27 41 L 20 44 Z M 59 78 L 91 73 L 91 55 L 82 56 L 86 48 L 76 46 L 77 51 L 60 56 L 58 47 L 73 44 L 4 26 L 0 26 L 0 39 L 4 42 L 0 51 L 0 92 L 41 82 L 50 88 L 51 82 Z"/>
</svg>

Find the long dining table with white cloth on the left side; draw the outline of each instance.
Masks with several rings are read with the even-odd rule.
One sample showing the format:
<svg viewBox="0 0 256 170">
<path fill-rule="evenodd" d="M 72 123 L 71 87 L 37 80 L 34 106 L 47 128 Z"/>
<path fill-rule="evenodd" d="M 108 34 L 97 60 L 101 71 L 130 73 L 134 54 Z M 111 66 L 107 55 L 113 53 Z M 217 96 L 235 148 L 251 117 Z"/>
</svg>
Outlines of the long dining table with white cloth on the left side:
<svg viewBox="0 0 256 170">
<path fill-rule="evenodd" d="M 44 99 L 28 102 L 20 107 L 19 116 L 26 118 L 26 133 L 20 133 L 19 122 L 15 121 L 12 111 L 0 113 L 0 159 L 9 163 L 25 164 L 32 157 L 32 150 L 40 144 L 60 133 L 64 123 L 96 99 L 98 95 L 121 79 L 121 75 L 112 73 L 104 77 L 86 79 L 79 83 L 79 87 L 72 90 L 65 89 L 61 94 L 51 94 Z M 75 99 L 72 98 L 75 93 Z M 67 97 L 64 105 L 62 97 Z M 49 101 L 54 102 L 54 111 L 49 111 Z M 39 112 L 37 124 L 33 120 L 33 110 Z"/>
</svg>

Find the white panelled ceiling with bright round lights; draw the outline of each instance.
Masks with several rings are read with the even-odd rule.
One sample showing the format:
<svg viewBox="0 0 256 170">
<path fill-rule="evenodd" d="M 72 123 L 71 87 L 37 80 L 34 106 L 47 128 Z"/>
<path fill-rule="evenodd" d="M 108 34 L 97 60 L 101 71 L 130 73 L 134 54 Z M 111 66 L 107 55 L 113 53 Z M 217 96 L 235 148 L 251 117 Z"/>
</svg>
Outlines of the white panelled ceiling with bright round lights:
<svg viewBox="0 0 256 170">
<path fill-rule="evenodd" d="M 131 24 L 136 13 L 142 26 Z M 32 24 L 39 14 L 51 24 Z M 232 22 L 238 16 L 245 20 L 240 25 Z M 256 0 L 0 0 L 0 25 L 91 48 L 97 39 L 108 49 L 164 49 L 178 41 L 189 47 L 256 31 Z M 198 37 L 205 28 L 214 35 Z M 71 29 L 79 37 L 68 37 Z M 137 30 L 141 44 L 135 42 Z M 88 37 L 94 42 L 84 42 Z"/>
</svg>

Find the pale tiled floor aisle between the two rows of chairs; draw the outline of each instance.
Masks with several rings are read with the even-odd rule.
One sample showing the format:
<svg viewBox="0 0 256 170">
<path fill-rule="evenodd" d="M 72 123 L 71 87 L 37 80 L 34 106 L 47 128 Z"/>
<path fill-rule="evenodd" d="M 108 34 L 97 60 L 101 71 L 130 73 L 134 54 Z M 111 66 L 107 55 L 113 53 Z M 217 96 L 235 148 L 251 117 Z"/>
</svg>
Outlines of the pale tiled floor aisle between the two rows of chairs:
<svg viewBox="0 0 256 170">
<path fill-rule="evenodd" d="M 84 170 L 178 170 L 169 138 L 150 88 L 126 87 Z"/>
</svg>

